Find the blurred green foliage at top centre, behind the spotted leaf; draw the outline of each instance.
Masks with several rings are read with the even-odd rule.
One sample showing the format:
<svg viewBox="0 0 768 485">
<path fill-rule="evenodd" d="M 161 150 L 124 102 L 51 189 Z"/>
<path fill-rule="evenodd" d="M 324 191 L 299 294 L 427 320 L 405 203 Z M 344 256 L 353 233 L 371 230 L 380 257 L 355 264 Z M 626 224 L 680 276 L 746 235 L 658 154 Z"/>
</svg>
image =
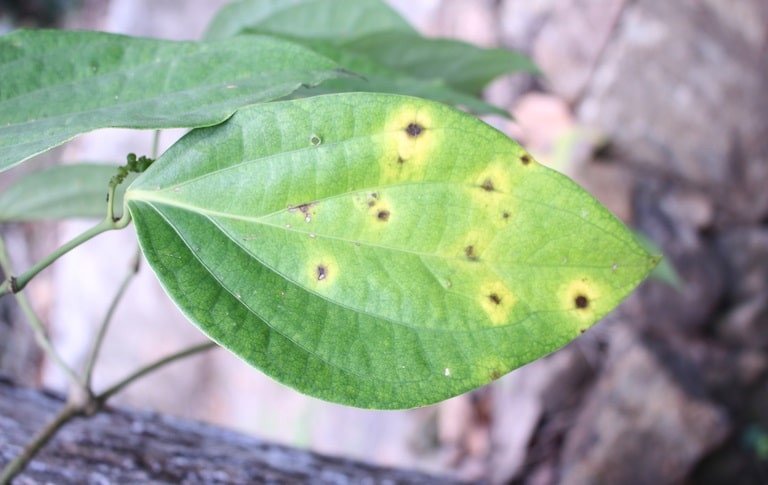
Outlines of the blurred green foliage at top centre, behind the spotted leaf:
<svg viewBox="0 0 768 485">
<path fill-rule="evenodd" d="M 382 19 L 379 21 L 379 19 Z M 535 72 L 525 56 L 466 42 L 422 37 L 381 0 L 245 0 L 213 20 L 210 38 L 270 34 L 333 59 L 362 78 L 335 79 L 297 96 L 334 92 L 407 94 L 509 117 L 479 98 L 494 78 Z"/>
</svg>

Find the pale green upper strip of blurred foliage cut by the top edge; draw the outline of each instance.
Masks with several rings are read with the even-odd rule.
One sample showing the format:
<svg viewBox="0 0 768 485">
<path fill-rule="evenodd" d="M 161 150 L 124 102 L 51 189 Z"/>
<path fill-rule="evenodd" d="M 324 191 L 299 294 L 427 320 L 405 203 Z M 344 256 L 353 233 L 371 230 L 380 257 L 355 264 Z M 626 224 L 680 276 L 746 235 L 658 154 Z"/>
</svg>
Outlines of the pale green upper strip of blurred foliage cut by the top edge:
<svg viewBox="0 0 768 485">
<path fill-rule="evenodd" d="M 242 0 L 219 10 L 206 38 L 233 37 L 246 28 L 332 41 L 382 30 L 413 32 L 408 22 L 381 0 Z"/>
</svg>

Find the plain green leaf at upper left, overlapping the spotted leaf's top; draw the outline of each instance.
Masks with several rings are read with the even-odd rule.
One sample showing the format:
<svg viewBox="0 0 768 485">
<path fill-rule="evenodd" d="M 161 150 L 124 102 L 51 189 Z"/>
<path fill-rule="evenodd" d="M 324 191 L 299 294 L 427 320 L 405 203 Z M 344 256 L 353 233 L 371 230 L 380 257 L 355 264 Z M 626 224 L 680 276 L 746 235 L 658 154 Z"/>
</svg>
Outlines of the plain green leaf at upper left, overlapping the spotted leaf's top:
<svg viewBox="0 0 768 485">
<path fill-rule="evenodd" d="M 14 32 L 0 37 L 0 171 L 97 128 L 215 125 L 240 106 L 339 77 L 336 67 L 268 37 Z"/>
</svg>

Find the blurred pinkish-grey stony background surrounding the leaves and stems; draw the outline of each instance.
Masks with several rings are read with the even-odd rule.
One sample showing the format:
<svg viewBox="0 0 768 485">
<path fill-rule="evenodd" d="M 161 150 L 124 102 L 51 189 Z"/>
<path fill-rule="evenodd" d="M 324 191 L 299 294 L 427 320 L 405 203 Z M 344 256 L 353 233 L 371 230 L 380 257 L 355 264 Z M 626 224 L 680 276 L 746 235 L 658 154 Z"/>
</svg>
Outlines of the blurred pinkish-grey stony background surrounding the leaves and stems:
<svg viewBox="0 0 768 485">
<path fill-rule="evenodd" d="M 0 0 L 0 31 L 87 28 L 200 38 L 224 0 Z M 422 32 L 503 46 L 541 75 L 496 81 L 488 121 L 653 240 L 682 283 L 649 281 L 565 349 L 437 406 L 364 411 L 302 396 L 223 350 L 115 404 L 194 418 L 378 464 L 494 483 L 768 483 L 768 2 L 391 0 Z M 163 133 L 169 146 L 181 132 Z M 104 130 L 3 174 L 122 162 L 151 132 Z M 24 268 L 92 224 L 6 225 Z M 29 286 L 81 362 L 135 246 L 101 236 Z M 118 256 L 119 255 L 119 256 Z M 106 385 L 201 340 L 145 266 L 96 374 Z M 9 298 L 0 373 L 63 390 Z"/>
</svg>

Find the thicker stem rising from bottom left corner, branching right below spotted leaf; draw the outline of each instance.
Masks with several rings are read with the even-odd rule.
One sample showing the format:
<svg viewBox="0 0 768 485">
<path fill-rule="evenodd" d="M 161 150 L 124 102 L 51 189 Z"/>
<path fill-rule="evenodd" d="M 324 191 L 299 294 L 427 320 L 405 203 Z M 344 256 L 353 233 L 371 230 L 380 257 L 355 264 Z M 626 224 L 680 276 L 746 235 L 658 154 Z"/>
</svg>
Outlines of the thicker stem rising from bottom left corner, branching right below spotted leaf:
<svg viewBox="0 0 768 485">
<path fill-rule="evenodd" d="M 135 382 L 136 380 L 150 374 L 161 367 L 184 359 L 186 357 L 211 350 L 216 347 L 214 342 L 205 342 L 195 345 L 194 347 L 187 348 L 180 352 L 173 353 L 167 357 L 157 360 L 139 370 L 129 374 L 127 377 L 116 382 L 102 393 L 94 396 L 90 392 L 83 396 L 85 399 L 82 402 L 70 399 L 67 404 L 59 411 L 58 414 L 50 421 L 40 432 L 35 435 L 32 441 L 24 447 L 21 454 L 12 460 L 2 472 L 0 472 L 0 485 L 6 485 L 11 483 L 11 480 L 21 473 L 24 468 L 29 464 L 35 455 L 42 449 L 56 433 L 69 421 L 78 416 L 90 417 L 98 413 L 106 404 L 107 400 L 125 389 L 127 386 Z"/>
</svg>

